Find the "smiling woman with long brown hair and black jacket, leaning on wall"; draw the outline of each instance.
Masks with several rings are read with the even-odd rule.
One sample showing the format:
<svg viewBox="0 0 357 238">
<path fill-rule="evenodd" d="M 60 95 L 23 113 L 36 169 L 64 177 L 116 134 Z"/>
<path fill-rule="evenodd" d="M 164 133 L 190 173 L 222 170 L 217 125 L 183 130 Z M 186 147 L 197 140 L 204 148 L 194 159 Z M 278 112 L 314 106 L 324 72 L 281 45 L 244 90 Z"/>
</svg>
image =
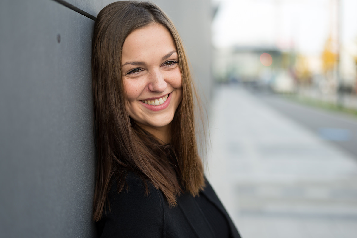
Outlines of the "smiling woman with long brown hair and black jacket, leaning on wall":
<svg viewBox="0 0 357 238">
<path fill-rule="evenodd" d="M 94 220 L 101 237 L 240 237 L 203 175 L 178 33 L 148 2 L 97 16 Z"/>
</svg>

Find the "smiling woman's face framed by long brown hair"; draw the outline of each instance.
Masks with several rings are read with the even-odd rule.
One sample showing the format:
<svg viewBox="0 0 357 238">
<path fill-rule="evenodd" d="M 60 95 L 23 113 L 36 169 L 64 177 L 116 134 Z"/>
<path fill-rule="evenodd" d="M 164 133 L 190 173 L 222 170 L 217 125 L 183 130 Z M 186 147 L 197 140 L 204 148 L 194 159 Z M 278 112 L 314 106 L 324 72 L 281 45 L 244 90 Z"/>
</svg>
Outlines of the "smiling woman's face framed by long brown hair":
<svg viewBox="0 0 357 238">
<path fill-rule="evenodd" d="M 168 130 L 182 100 L 180 66 L 170 32 L 160 24 L 131 32 L 121 60 L 129 116 L 151 133 Z"/>
</svg>

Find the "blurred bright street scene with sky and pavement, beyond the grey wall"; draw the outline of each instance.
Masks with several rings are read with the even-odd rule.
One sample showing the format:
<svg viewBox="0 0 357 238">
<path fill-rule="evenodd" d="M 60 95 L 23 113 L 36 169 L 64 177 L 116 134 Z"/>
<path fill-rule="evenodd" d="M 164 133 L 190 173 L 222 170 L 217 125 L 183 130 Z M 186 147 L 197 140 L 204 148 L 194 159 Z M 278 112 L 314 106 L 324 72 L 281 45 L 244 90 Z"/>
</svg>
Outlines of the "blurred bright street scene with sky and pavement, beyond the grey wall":
<svg viewBox="0 0 357 238">
<path fill-rule="evenodd" d="M 242 237 L 356 237 L 357 1 L 212 4 L 207 175 Z"/>
</svg>

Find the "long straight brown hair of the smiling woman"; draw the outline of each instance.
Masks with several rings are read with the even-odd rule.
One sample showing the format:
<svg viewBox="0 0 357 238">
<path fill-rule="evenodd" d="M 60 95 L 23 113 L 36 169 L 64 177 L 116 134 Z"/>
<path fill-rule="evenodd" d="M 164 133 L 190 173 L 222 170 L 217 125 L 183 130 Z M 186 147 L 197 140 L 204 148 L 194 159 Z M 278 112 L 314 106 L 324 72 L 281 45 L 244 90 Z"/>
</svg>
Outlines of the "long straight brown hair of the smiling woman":
<svg viewBox="0 0 357 238">
<path fill-rule="evenodd" d="M 121 73 L 125 38 L 134 30 L 161 24 L 171 33 L 178 54 L 183 99 L 171 123 L 171 143 L 163 146 L 129 117 Z M 95 21 L 92 84 L 97 149 L 95 221 L 106 212 L 112 182 L 125 190 L 128 172 L 160 189 L 170 206 L 181 192 L 196 196 L 204 186 L 193 117 L 192 78 L 178 32 L 169 17 L 149 2 L 119 1 L 102 9 Z M 145 183 L 146 184 L 146 183 Z M 149 194 L 146 186 L 146 194 Z"/>
</svg>

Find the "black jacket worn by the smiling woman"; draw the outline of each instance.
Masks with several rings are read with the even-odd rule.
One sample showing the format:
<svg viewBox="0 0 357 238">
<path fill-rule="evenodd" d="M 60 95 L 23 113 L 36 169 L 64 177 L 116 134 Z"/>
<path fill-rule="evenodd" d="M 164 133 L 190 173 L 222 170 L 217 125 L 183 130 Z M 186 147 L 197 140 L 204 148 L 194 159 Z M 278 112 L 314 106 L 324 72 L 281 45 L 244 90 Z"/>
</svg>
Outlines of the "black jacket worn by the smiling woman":
<svg viewBox="0 0 357 238">
<path fill-rule="evenodd" d="M 109 194 L 111 212 L 103 215 L 97 223 L 100 237 L 145 237 L 145 238 L 210 238 L 212 228 L 203 217 L 196 198 L 190 194 L 182 194 L 177 198 L 177 206 L 169 207 L 160 190 L 148 183 L 150 196 L 145 196 L 144 184 L 135 175 L 127 176 L 128 192 L 116 193 L 112 188 Z M 240 235 L 228 216 L 222 203 L 206 180 L 205 190 L 200 193 L 206 196 L 218 208 L 226 221 L 230 237 Z"/>
</svg>

